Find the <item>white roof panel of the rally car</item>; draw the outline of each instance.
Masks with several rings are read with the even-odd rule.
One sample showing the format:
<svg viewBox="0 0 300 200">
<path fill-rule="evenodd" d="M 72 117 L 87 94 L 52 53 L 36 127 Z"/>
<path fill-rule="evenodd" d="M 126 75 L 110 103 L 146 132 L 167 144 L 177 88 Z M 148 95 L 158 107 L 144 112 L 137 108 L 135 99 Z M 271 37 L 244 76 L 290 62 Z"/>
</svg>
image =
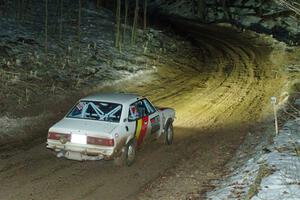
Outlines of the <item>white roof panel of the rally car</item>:
<svg viewBox="0 0 300 200">
<path fill-rule="evenodd" d="M 125 94 L 125 93 L 97 93 L 94 95 L 87 96 L 81 101 L 103 101 L 103 102 L 112 102 L 112 103 L 131 103 L 136 100 L 141 99 L 137 94 Z"/>
</svg>

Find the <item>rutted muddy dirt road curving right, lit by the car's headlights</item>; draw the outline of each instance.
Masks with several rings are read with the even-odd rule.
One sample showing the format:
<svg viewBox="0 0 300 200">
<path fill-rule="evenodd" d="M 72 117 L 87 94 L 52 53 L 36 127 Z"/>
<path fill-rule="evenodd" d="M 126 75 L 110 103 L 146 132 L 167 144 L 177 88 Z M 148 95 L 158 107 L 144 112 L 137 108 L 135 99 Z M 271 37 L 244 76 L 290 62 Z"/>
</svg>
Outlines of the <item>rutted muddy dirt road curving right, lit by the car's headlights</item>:
<svg viewBox="0 0 300 200">
<path fill-rule="evenodd" d="M 182 58 L 161 59 L 157 72 L 147 78 L 95 89 L 137 92 L 158 106 L 174 107 L 173 146 L 146 144 L 132 167 L 121 168 L 110 161 L 59 159 L 39 144 L 2 156 L 0 199 L 165 199 L 182 191 L 180 199 L 193 187 L 203 189 L 212 178 L 207 172 L 222 171 L 246 129 L 269 117 L 269 98 L 280 93 L 285 77 L 275 74 L 283 62 L 281 54 L 255 34 L 186 26 L 193 29 L 189 37 L 197 46 L 193 59 L 187 57 L 184 63 Z M 197 184 L 181 188 L 173 182 L 159 189 L 157 177 L 193 160 L 201 162 Z"/>
</svg>

